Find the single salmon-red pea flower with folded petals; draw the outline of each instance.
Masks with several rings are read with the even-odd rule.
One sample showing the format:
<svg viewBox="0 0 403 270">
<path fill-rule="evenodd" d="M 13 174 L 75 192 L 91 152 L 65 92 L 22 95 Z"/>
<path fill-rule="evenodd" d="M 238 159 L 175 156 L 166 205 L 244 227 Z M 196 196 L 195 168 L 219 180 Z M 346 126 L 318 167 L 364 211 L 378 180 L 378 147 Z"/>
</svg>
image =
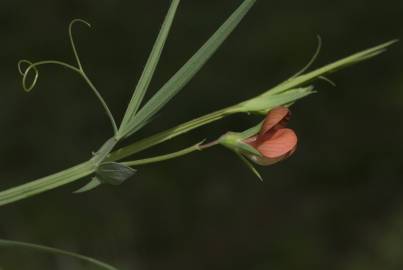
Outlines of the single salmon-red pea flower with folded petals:
<svg viewBox="0 0 403 270">
<path fill-rule="evenodd" d="M 271 165 L 289 157 L 297 147 L 297 135 L 286 128 L 290 119 L 290 111 L 286 107 L 271 110 L 259 131 L 259 134 L 244 140 L 255 148 L 262 156 L 248 154 L 248 158 L 259 165 Z"/>
</svg>

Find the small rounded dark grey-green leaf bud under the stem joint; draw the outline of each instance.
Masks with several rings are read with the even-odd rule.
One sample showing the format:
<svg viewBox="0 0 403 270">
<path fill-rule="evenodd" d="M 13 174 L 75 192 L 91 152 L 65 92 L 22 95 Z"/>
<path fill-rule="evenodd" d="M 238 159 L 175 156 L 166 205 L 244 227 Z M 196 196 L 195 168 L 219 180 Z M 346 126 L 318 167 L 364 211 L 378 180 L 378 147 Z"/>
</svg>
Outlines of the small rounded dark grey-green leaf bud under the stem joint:
<svg viewBox="0 0 403 270">
<path fill-rule="evenodd" d="M 135 173 L 135 169 L 117 162 L 102 163 L 95 171 L 95 175 L 101 183 L 115 186 L 122 184 Z"/>
</svg>

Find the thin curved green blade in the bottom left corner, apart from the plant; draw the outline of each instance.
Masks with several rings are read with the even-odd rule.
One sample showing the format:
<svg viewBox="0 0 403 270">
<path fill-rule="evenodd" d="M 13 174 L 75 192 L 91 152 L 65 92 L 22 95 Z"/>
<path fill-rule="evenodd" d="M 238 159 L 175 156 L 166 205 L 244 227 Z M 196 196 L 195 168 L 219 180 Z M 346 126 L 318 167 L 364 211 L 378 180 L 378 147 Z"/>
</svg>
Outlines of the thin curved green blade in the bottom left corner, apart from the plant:
<svg viewBox="0 0 403 270">
<path fill-rule="evenodd" d="M 61 250 L 61 249 L 57 249 L 57 248 L 42 246 L 42 245 L 0 239 L 0 248 L 1 247 L 32 249 L 32 250 L 51 253 L 51 254 L 55 254 L 55 255 L 63 255 L 63 256 L 72 257 L 72 258 L 79 259 L 81 261 L 85 261 L 87 263 L 93 264 L 93 265 L 97 266 L 98 269 L 118 270 L 116 267 L 113 267 L 107 263 L 98 261 L 96 259 L 84 256 L 84 255 L 80 255 L 77 253 L 73 253 L 73 252 L 69 252 L 69 251 L 65 251 L 65 250 Z"/>
</svg>

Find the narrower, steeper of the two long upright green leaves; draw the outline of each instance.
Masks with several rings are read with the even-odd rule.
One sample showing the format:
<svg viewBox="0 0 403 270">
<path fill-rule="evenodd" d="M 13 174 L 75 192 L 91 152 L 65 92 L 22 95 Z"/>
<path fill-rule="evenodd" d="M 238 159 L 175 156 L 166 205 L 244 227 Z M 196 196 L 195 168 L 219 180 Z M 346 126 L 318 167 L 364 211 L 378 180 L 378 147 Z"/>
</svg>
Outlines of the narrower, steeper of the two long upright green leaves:
<svg viewBox="0 0 403 270">
<path fill-rule="evenodd" d="M 169 31 L 171 29 L 179 3 L 180 3 L 180 0 L 173 0 L 171 2 L 171 6 L 165 17 L 164 23 L 162 24 L 162 27 L 158 34 L 157 40 L 154 43 L 154 47 L 147 60 L 146 66 L 145 66 L 143 73 L 140 77 L 140 80 L 136 86 L 136 89 L 134 90 L 134 93 L 133 93 L 132 99 L 129 103 L 129 106 L 127 107 L 127 110 L 126 110 L 126 113 L 123 118 L 119 131 L 124 130 L 127 125 L 130 125 L 130 122 L 133 120 L 133 116 L 137 113 L 137 110 L 140 107 L 140 104 L 144 98 L 144 95 L 145 95 L 145 93 L 150 85 L 151 79 L 154 75 L 155 69 L 158 65 L 162 50 L 164 48 Z M 124 136 L 125 134 L 119 134 L 119 135 Z"/>
</svg>

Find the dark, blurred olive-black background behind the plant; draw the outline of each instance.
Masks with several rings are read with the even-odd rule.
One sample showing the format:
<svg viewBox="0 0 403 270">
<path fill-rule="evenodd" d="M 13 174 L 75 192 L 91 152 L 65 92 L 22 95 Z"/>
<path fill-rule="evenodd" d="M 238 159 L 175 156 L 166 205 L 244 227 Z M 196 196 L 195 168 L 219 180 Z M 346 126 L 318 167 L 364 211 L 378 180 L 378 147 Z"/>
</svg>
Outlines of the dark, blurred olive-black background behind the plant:
<svg viewBox="0 0 403 270">
<path fill-rule="evenodd" d="M 82 62 L 121 116 L 169 6 L 166 0 L 0 2 L 0 188 L 89 158 L 111 136 L 77 75 L 41 68 L 21 87 L 16 63 Z M 182 1 L 150 96 L 221 25 L 240 0 Z M 264 1 L 135 141 L 253 97 L 302 68 L 323 38 L 319 67 L 402 38 L 403 2 Z M 292 158 L 259 168 L 259 182 L 223 148 L 144 166 L 120 187 L 84 195 L 85 181 L 0 208 L 0 238 L 55 246 L 120 269 L 403 269 L 403 46 L 318 82 L 293 106 Z M 233 116 L 137 157 L 166 153 L 258 119 Z M 0 249 L 1 270 L 95 269 L 65 257 Z"/>
</svg>

